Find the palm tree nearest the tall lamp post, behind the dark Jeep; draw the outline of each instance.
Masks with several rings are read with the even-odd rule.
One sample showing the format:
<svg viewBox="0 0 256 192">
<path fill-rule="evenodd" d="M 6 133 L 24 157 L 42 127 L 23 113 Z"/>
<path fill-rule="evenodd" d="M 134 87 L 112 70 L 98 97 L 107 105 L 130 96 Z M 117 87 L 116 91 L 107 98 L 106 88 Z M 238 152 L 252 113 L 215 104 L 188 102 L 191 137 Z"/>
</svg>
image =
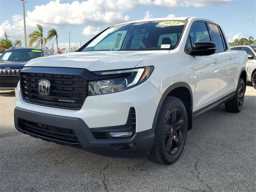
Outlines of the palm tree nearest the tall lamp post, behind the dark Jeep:
<svg viewBox="0 0 256 192">
<path fill-rule="evenodd" d="M 32 46 L 32 44 L 34 44 L 34 42 L 36 42 L 36 46 L 39 47 L 39 45 L 41 44 L 41 47 L 43 46 L 43 44 L 45 45 L 47 42 L 46 38 L 43 38 L 44 36 L 44 30 L 42 25 L 40 24 L 36 24 L 37 26 L 37 30 L 32 31 L 32 33 L 30 33 L 28 35 L 29 43 L 28 46 Z"/>
</svg>

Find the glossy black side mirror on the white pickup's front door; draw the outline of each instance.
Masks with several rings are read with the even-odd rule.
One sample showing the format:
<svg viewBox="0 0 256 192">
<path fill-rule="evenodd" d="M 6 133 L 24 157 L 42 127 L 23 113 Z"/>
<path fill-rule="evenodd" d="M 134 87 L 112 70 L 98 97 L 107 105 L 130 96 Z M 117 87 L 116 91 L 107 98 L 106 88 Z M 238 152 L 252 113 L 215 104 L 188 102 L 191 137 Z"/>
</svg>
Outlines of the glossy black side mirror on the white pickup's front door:
<svg viewBox="0 0 256 192">
<path fill-rule="evenodd" d="M 198 41 L 194 43 L 193 50 L 188 51 L 187 54 L 193 56 L 212 55 L 216 52 L 216 44 L 214 42 Z"/>
</svg>

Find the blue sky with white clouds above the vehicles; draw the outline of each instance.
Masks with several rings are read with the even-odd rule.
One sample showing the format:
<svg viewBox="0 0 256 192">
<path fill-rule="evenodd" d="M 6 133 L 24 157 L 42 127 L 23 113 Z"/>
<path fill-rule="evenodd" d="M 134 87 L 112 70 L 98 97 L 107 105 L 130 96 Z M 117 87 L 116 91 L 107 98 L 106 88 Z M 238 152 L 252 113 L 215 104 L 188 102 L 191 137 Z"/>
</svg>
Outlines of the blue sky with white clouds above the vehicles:
<svg viewBox="0 0 256 192">
<path fill-rule="evenodd" d="M 44 27 L 44 36 L 54 28 L 59 48 L 80 47 L 108 26 L 144 18 L 196 16 L 221 24 L 229 42 L 256 38 L 256 0 L 26 0 L 27 36 Z M 11 40 L 24 46 L 23 8 L 20 0 L 0 0 L 0 38 L 7 32 Z M 56 41 L 47 47 L 56 49 Z"/>
</svg>

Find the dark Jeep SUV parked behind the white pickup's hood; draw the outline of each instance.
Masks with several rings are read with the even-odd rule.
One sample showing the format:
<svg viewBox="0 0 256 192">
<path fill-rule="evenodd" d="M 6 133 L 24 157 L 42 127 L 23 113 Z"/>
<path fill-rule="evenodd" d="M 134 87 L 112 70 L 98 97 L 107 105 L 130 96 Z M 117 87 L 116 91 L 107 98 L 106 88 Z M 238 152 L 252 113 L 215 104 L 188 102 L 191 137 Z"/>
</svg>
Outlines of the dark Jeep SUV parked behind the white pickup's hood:
<svg viewBox="0 0 256 192">
<path fill-rule="evenodd" d="M 0 56 L 0 90 L 13 90 L 20 80 L 20 71 L 31 59 L 53 55 L 48 48 L 12 47 Z"/>
</svg>

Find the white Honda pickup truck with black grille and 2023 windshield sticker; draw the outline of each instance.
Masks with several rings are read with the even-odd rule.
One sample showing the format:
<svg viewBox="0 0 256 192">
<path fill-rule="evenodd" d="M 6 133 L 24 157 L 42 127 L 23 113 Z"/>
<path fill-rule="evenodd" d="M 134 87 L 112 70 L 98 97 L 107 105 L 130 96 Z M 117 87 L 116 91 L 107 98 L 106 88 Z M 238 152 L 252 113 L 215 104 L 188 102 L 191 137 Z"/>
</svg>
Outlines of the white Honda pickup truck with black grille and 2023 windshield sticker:
<svg viewBox="0 0 256 192">
<path fill-rule="evenodd" d="M 114 25 L 78 51 L 29 61 L 16 88 L 18 131 L 104 156 L 177 160 L 193 117 L 240 112 L 246 52 L 195 17 Z"/>
</svg>

